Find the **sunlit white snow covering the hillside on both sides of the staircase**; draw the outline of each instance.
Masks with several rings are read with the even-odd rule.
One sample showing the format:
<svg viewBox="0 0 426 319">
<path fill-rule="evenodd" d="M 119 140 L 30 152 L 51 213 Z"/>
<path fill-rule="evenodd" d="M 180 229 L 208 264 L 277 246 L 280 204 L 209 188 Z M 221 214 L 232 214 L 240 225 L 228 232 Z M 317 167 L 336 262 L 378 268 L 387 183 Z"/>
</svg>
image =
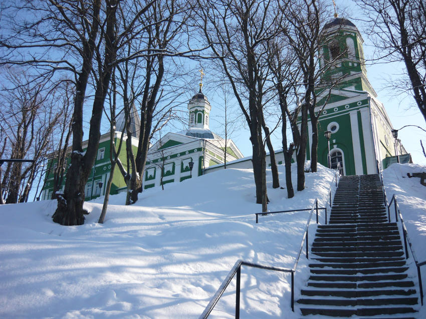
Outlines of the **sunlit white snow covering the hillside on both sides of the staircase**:
<svg viewBox="0 0 426 319">
<path fill-rule="evenodd" d="M 426 259 L 426 187 L 402 177 L 421 170 L 393 164 L 383 173 L 420 261 Z M 287 199 L 268 176 L 269 209 L 308 208 L 316 197 L 323 206 L 332 178 L 319 166 L 306 174 L 306 189 Z M 238 259 L 293 267 L 309 212 L 260 216 L 256 224 L 261 205 L 254 203 L 251 170 L 164 187 L 144 191 L 132 206 L 122 205 L 124 194 L 112 196 L 104 224 L 97 223 L 102 198 L 85 203 L 86 223 L 71 227 L 52 222 L 55 201 L 0 206 L 0 318 L 197 318 Z M 302 256 L 296 299 L 307 275 Z M 426 281 L 426 269 L 422 275 Z M 241 317 L 300 316 L 290 308 L 290 274 L 243 266 L 241 282 Z M 231 318 L 234 307 L 233 282 L 211 317 Z"/>
</svg>

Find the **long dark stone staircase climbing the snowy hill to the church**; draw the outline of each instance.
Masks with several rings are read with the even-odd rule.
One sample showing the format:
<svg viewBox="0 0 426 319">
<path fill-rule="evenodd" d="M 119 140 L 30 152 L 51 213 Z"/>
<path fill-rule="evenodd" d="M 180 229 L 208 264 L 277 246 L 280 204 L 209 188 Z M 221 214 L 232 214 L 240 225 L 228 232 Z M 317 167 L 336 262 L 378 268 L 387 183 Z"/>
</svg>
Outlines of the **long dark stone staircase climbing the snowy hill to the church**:
<svg viewBox="0 0 426 319">
<path fill-rule="evenodd" d="M 312 243 L 303 315 L 414 318 L 417 292 L 378 175 L 344 176 Z"/>
</svg>

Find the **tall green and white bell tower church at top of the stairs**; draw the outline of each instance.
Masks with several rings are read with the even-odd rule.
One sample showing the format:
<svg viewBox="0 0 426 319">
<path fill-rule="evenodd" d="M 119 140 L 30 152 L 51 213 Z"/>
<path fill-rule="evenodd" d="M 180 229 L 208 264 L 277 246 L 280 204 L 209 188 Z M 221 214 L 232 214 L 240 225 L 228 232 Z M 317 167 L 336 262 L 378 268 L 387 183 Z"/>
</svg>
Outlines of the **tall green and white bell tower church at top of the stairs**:
<svg viewBox="0 0 426 319">
<path fill-rule="evenodd" d="M 387 166 L 391 159 L 396 161 L 396 149 L 389 117 L 367 78 L 363 39 L 354 24 L 341 18 L 326 24 L 322 35 L 320 67 L 336 60 L 323 78 L 342 80 L 331 92 L 329 87 L 317 92 L 316 112 L 326 103 L 318 121 L 318 162 L 327 166 L 328 143 L 323 132 L 331 131 L 332 167 L 340 162 L 345 175 L 376 173 L 377 161 L 381 167 Z M 306 158 L 309 160 L 312 125 L 308 121 Z M 399 140 L 396 147 L 399 155 L 406 154 Z M 409 155 L 402 158 L 408 160 Z"/>
</svg>

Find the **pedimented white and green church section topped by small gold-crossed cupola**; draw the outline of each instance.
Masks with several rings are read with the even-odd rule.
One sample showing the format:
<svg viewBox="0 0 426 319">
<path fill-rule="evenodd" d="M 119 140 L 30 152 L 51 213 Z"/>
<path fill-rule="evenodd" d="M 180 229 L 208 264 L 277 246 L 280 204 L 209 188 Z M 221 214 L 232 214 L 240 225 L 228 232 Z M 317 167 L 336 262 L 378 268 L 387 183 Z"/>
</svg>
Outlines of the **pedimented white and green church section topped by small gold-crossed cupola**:
<svg viewBox="0 0 426 319">
<path fill-rule="evenodd" d="M 203 175 L 207 167 L 224 163 L 225 152 L 227 162 L 243 157 L 231 139 L 225 141 L 209 130 L 211 106 L 201 87 L 202 84 L 188 103 L 188 129 L 167 133 L 149 149 L 142 182 L 144 189 Z"/>
</svg>

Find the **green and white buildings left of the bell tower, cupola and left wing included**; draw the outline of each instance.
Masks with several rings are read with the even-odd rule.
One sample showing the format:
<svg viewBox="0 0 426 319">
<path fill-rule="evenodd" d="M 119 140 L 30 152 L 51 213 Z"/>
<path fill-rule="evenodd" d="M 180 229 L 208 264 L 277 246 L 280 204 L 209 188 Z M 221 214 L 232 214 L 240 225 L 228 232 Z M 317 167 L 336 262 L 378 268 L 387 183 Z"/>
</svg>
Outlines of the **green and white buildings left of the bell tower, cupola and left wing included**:
<svg viewBox="0 0 426 319">
<path fill-rule="evenodd" d="M 181 182 L 191 177 L 203 175 L 205 168 L 224 163 L 225 153 L 227 162 L 243 157 L 243 154 L 231 139 L 225 141 L 225 139 L 209 130 L 208 123 L 211 106 L 207 97 L 202 93 L 201 87 L 202 84 L 200 83 L 199 92 L 188 103 L 188 129 L 178 133 L 169 132 L 160 141 L 150 146 L 142 180 L 144 189 L 160 186 L 161 184 Z M 132 139 L 134 153 L 136 153 L 140 118 L 134 106 L 131 115 L 132 136 L 130 138 Z M 124 114 L 121 114 L 117 119 L 117 128 L 114 133 L 114 145 L 116 148 L 120 141 L 121 132 L 124 130 L 124 124 Z M 124 135 L 124 139 L 126 138 L 126 135 Z M 87 144 L 88 141 L 83 142 L 83 150 L 85 150 Z M 101 135 L 95 165 L 85 187 L 86 200 L 105 195 L 106 183 L 111 171 L 109 160 L 110 144 L 110 133 Z M 71 152 L 71 149 L 69 149 L 69 152 Z M 125 146 L 121 148 L 119 158 L 125 169 L 127 169 Z M 48 167 L 50 167 L 50 170 L 45 177 L 42 200 L 52 197 L 53 172 L 56 161 L 54 157 L 49 160 Z M 192 169 L 189 163 L 192 163 Z M 70 161 L 68 159 L 64 167 L 65 174 L 69 164 Z M 62 190 L 64 187 L 65 178 Z M 110 193 L 117 194 L 126 190 L 124 178 L 116 169 Z"/>
</svg>

